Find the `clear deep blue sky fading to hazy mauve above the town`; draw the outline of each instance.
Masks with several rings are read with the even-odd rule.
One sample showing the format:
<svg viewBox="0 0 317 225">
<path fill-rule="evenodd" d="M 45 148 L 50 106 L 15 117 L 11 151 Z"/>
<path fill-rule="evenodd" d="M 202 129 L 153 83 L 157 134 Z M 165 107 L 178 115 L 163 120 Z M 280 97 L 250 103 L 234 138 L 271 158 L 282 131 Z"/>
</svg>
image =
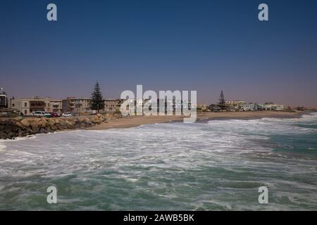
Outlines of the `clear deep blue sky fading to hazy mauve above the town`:
<svg viewBox="0 0 317 225">
<path fill-rule="evenodd" d="M 314 0 L 1 0 L 0 86 L 66 98 L 98 80 L 107 98 L 143 84 L 205 103 L 223 89 L 226 100 L 317 106 L 316 11 Z"/>
</svg>

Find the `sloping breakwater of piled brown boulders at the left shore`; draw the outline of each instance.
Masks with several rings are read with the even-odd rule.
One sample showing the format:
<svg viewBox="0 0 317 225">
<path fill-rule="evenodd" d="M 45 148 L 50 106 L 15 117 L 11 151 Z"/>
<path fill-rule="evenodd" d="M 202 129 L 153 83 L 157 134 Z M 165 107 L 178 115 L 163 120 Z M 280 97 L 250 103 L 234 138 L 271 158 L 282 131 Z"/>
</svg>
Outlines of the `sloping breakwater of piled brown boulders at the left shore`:
<svg viewBox="0 0 317 225">
<path fill-rule="evenodd" d="M 84 129 L 106 122 L 106 120 L 106 116 L 103 115 L 58 118 L 3 118 L 0 119 L 0 139 L 14 139 L 18 136 L 46 134 L 66 129 Z"/>
</svg>

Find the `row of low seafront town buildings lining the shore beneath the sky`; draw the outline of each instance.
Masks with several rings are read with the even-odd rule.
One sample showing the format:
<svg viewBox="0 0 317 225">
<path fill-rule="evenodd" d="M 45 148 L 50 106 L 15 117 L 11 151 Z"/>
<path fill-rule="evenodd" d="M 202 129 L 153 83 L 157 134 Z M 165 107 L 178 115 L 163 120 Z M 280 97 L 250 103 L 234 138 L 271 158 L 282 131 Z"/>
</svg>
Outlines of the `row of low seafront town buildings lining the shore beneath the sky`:
<svg viewBox="0 0 317 225">
<path fill-rule="evenodd" d="M 2 116 L 18 114 L 24 116 L 35 115 L 38 112 L 45 112 L 61 115 L 91 115 L 94 113 L 118 113 L 124 99 L 101 98 L 101 107 L 92 108 L 93 97 L 67 97 L 65 99 L 55 99 L 50 97 L 23 97 L 8 99 L 8 94 L 1 89 L 0 94 L 0 112 Z M 100 96 L 101 93 L 100 93 Z M 146 102 L 143 100 L 141 102 Z M 158 101 L 160 101 L 158 99 Z M 135 100 L 137 104 L 138 99 Z M 297 107 L 296 110 L 305 110 L 304 107 Z M 293 109 L 285 107 L 278 103 L 248 103 L 247 101 L 225 101 L 223 91 L 220 93 L 219 102 L 208 105 L 206 103 L 197 103 L 198 112 L 244 112 L 258 110 L 274 111 L 292 111 Z M 98 112 L 97 112 L 98 111 Z"/>
</svg>

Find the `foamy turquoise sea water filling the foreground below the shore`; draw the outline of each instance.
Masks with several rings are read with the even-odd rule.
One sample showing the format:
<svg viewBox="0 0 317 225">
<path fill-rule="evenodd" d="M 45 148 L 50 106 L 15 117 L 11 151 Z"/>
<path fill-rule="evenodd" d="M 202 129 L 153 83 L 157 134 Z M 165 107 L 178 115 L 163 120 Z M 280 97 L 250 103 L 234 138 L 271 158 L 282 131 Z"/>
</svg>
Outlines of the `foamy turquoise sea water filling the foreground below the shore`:
<svg viewBox="0 0 317 225">
<path fill-rule="evenodd" d="M 317 210 L 316 172 L 317 113 L 40 134 L 0 142 L 0 210 Z"/>
</svg>

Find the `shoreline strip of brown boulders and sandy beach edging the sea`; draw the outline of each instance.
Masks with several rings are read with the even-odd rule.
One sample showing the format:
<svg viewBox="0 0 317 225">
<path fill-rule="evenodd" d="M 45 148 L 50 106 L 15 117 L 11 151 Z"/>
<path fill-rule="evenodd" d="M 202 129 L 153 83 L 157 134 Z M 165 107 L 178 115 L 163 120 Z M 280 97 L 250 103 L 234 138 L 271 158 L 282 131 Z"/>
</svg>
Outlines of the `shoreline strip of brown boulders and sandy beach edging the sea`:
<svg viewBox="0 0 317 225">
<path fill-rule="evenodd" d="M 252 111 L 252 112 L 220 112 L 197 113 L 197 123 L 211 120 L 256 120 L 261 118 L 299 118 L 317 112 L 307 110 L 304 112 L 276 112 L 276 111 Z M 168 122 L 183 122 L 185 116 L 180 115 L 156 115 L 156 116 L 130 116 L 111 117 L 107 115 L 89 115 L 66 118 L 22 118 L 0 120 L 0 139 L 15 139 L 22 136 L 35 134 L 49 134 L 58 131 L 91 130 L 101 131 L 107 129 L 121 129 L 139 127 L 147 124 L 162 124 Z"/>
</svg>

